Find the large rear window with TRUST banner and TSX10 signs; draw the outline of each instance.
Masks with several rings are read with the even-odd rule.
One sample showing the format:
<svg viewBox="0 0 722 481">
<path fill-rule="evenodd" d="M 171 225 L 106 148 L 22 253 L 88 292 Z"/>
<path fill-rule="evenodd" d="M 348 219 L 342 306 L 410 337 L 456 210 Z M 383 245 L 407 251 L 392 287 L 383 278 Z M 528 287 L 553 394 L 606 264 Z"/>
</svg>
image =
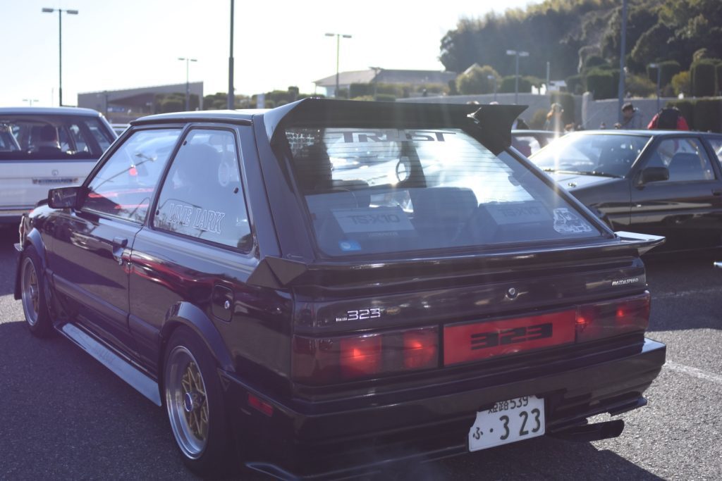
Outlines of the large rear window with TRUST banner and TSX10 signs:
<svg viewBox="0 0 722 481">
<path fill-rule="evenodd" d="M 326 255 L 600 237 L 509 154 L 461 129 L 289 128 L 295 182 Z"/>
</svg>

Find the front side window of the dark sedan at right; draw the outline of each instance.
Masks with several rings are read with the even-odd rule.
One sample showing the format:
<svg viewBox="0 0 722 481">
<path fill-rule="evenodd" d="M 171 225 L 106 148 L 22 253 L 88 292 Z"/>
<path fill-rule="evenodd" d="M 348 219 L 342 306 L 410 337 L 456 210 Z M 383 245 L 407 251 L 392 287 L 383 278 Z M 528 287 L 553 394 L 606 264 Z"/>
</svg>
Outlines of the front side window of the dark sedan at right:
<svg viewBox="0 0 722 481">
<path fill-rule="evenodd" d="M 647 167 L 666 167 L 669 180 L 713 180 L 715 173 L 707 152 L 697 138 L 669 138 L 661 141 Z"/>
</svg>

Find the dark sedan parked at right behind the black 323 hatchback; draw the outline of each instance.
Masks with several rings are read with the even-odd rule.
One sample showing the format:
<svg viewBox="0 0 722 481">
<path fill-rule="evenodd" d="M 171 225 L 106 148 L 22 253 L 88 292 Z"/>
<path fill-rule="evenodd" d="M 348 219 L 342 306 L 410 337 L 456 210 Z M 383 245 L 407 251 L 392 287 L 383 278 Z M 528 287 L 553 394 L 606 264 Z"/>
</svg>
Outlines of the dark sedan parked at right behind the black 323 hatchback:
<svg viewBox="0 0 722 481">
<path fill-rule="evenodd" d="M 584 131 L 531 160 L 612 229 L 686 250 L 722 245 L 721 148 L 717 133 Z"/>
</svg>

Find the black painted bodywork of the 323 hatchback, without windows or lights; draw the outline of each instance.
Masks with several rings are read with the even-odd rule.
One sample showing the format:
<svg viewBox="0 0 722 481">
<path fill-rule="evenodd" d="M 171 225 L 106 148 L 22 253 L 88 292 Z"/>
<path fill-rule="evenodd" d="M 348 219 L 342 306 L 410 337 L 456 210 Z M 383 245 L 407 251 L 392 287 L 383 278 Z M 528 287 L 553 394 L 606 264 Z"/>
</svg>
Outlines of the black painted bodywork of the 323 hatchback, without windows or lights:
<svg viewBox="0 0 722 481">
<path fill-rule="evenodd" d="M 321 101 L 207 118 L 155 116 L 137 121 L 121 138 L 163 125 L 231 128 L 242 155 L 253 229 L 249 252 L 155 229 L 152 214 L 141 225 L 82 208 L 36 208 L 24 219 L 22 240 L 35 244 L 46 272 L 53 273 L 51 305 L 58 326 L 87 325 L 156 379 L 161 390 L 165 343 L 178 325 L 191 328 L 216 360 L 243 459 L 280 477 L 337 477 L 373 472 L 378 462 L 409 454 L 426 460 L 461 454 L 477 410 L 511 397 L 543 396 L 548 432 L 640 405 L 665 353 L 664 345 L 641 333 L 378 379 L 320 387 L 295 381 L 294 335 L 321 339 L 425 326 L 441 331 L 456 322 L 635 296 L 646 289 L 640 252 L 661 242 L 615 237 L 584 211 L 601 231 L 598 239 L 373 262 L 323 258 L 269 139 L 284 116 L 292 116 L 298 105 L 313 110 L 313 102 Z M 321 117 L 333 114 L 342 123 L 349 115 L 341 109 L 334 114 L 334 102 L 320 105 Z M 395 107 L 362 105 L 370 117 L 365 121 L 373 121 L 375 108 L 394 112 Z M 399 107 L 399 118 L 413 109 Z M 419 109 L 446 118 L 443 107 Z M 456 106 L 448 112 L 464 114 L 469 122 L 466 115 L 473 110 Z M 386 121 L 393 124 L 393 116 Z M 568 193 L 560 195 L 581 208 Z M 127 242 L 121 246 L 122 239 Z M 619 280 L 624 283 L 614 283 Z M 510 298 L 511 288 L 518 294 Z M 372 304 L 393 314 L 357 323 L 336 320 Z M 249 394 L 269 403 L 273 415 L 254 410 Z"/>
</svg>

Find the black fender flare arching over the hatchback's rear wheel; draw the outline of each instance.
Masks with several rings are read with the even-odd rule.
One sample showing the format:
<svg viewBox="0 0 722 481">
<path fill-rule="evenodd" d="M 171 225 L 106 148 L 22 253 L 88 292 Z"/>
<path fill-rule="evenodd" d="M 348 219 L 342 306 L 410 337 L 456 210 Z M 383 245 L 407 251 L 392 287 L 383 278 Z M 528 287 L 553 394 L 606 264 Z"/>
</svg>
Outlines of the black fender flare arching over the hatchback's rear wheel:
<svg viewBox="0 0 722 481">
<path fill-rule="evenodd" d="M 165 322 L 160 329 L 161 348 L 158 351 L 158 366 L 162 366 L 165 345 L 168 344 L 173 330 L 179 325 L 187 326 L 193 330 L 193 332 L 196 332 L 196 335 L 201 338 L 211 355 L 215 358 L 220 369 L 228 372 L 234 371 L 232 356 L 228 352 L 220 332 L 218 332 L 211 319 L 209 319 L 198 306 L 186 301 L 176 302 L 168 309 Z M 162 373 L 162 369 L 159 369 L 159 373 Z"/>
</svg>

